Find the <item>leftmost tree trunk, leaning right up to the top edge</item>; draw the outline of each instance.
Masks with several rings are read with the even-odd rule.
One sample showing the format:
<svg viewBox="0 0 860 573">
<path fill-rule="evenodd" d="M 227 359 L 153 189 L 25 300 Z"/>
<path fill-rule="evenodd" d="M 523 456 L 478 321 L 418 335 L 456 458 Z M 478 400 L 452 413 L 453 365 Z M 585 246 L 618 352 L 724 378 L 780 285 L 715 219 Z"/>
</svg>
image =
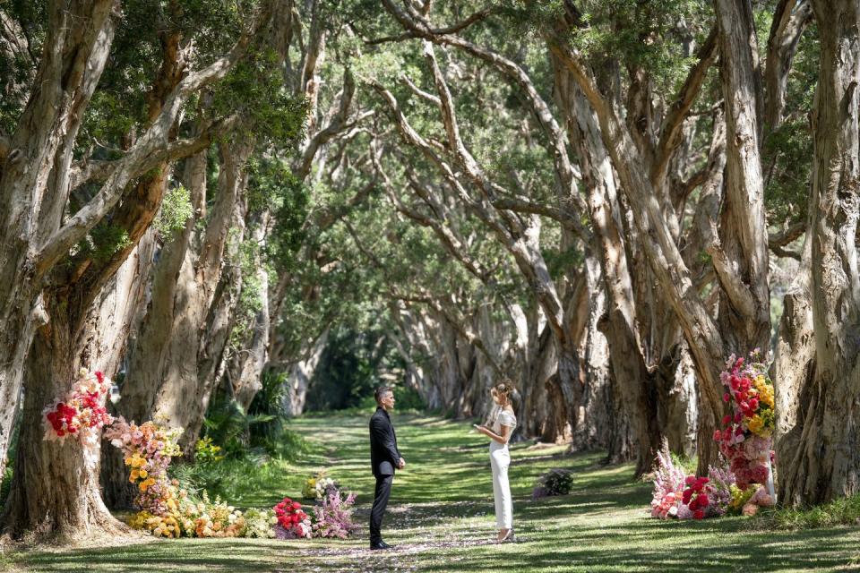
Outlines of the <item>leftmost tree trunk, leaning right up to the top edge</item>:
<svg viewBox="0 0 860 573">
<path fill-rule="evenodd" d="M 64 198 L 49 191 L 49 181 L 55 167 L 67 171 L 82 110 L 104 70 L 115 30 L 113 0 L 66 4 L 47 7 L 33 83 L 38 89 L 30 94 L 8 156 L 0 160 L 0 460 L 9 448 L 30 341 L 47 321 L 37 257 L 64 206 Z"/>
</svg>

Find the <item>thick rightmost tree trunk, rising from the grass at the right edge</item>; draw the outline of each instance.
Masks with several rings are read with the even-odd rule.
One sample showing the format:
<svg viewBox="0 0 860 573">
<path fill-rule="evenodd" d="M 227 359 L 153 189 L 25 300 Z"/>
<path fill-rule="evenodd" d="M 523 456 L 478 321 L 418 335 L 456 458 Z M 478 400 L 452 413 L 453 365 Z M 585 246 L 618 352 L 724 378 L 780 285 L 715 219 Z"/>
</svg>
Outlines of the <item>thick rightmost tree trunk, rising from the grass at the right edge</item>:
<svg viewBox="0 0 860 573">
<path fill-rule="evenodd" d="M 796 455 L 780 460 L 789 504 L 860 491 L 860 6 L 816 1 L 813 10 L 821 38 L 810 201 L 815 367 L 800 395 Z"/>
</svg>

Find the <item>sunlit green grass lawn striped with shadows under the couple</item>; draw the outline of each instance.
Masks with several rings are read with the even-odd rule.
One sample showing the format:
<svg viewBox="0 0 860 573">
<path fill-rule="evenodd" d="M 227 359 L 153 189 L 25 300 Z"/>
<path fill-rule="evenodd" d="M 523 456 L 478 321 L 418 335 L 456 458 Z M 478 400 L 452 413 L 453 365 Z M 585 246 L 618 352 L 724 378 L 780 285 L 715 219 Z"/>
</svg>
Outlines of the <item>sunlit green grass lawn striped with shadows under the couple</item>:
<svg viewBox="0 0 860 573">
<path fill-rule="evenodd" d="M 519 543 L 498 545 L 488 441 L 468 423 L 395 417 L 407 467 L 391 493 L 383 536 L 395 549 L 370 552 L 367 515 L 374 479 L 367 419 L 304 417 L 291 428 L 317 453 L 276 471 L 236 475 L 236 506 L 298 496 L 307 475 L 329 467 L 358 493 L 357 537 L 340 540 L 193 540 L 117 543 L 0 555 L 14 571 L 860 571 L 860 528 L 753 531 L 744 517 L 701 522 L 648 517 L 650 487 L 631 466 L 599 466 L 598 454 L 563 447 L 512 447 L 514 528 Z M 531 501 L 535 478 L 551 467 L 575 475 L 567 496 Z M 244 481 L 244 482 L 243 482 Z"/>
</svg>

